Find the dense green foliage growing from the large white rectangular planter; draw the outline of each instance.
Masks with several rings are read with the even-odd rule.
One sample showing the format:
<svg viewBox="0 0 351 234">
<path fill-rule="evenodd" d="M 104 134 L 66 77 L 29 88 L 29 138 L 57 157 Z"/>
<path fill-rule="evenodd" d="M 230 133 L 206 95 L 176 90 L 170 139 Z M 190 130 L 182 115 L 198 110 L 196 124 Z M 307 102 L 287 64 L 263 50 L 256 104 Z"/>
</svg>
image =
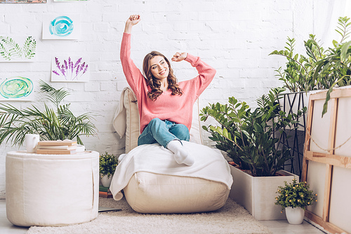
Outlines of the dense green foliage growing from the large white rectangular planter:
<svg viewBox="0 0 351 234">
<path fill-rule="evenodd" d="M 280 111 L 277 98 L 283 91 L 270 90 L 257 99 L 258 108 L 253 111 L 235 97 L 229 98 L 229 104 L 210 104 L 201 110 L 201 121 L 211 116 L 220 124 L 202 126 L 211 133 L 209 138 L 216 147 L 227 152 L 241 169 L 251 170 L 253 176 L 273 176 L 290 158 L 290 149 L 279 142 L 279 137 L 285 128 L 294 128 L 302 112 L 292 116 Z"/>
</svg>

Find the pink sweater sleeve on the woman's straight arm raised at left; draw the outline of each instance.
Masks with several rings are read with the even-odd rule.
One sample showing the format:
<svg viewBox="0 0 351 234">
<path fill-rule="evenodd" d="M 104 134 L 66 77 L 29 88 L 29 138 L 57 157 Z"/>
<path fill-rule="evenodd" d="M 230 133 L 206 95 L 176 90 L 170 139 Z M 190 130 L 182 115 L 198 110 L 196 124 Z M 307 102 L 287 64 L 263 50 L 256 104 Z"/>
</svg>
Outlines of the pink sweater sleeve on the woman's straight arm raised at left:
<svg viewBox="0 0 351 234">
<path fill-rule="evenodd" d="M 139 99 L 143 88 L 144 76 L 131 59 L 131 34 L 125 32 L 123 34 L 120 57 L 124 76 L 126 76 L 126 80 L 135 93 L 135 96 Z"/>
</svg>

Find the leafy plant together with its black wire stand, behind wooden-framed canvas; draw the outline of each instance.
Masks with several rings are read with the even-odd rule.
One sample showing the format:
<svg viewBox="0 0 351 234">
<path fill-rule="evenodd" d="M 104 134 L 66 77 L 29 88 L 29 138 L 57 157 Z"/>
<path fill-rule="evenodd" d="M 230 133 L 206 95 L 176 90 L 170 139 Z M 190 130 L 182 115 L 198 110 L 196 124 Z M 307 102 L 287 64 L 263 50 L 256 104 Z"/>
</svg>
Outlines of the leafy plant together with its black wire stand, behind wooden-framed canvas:
<svg viewBox="0 0 351 234">
<path fill-rule="evenodd" d="M 322 116 L 327 111 L 330 94 L 334 87 L 351 84 L 351 42 L 346 39 L 351 33 L 350 18 L 338 18 L 336 32 L 340 34 L 340 41 L 333 40 L 333 48 L 325 50 L 316 36 L 310 34 L 304 41 L 306 55 L 298 55 L 294 51 L 295 39 L 288 37 L 284 50 L 274 50 L 270 55 L 286 57 L 286 67 L 277 69 L 277 77 L 283 81 L 284 88 L 290 92 L 284 93 L 281 100 L 282 110 L 286 113 L 296 113 L 297 109 L 308 106 L 308 98 L 311 92 L 328 90 L 323 106 Z M 301 173 L 303 158 L 303 143 L 305 139 L 305 127 L 307 113 L 301 116 L 298 128 L 292 132 L 287 131 L 290 139 L 282 139 L 286 146 L 291 147 L 291 160 L 286 168 L 296 174 Z"/>
</svg>

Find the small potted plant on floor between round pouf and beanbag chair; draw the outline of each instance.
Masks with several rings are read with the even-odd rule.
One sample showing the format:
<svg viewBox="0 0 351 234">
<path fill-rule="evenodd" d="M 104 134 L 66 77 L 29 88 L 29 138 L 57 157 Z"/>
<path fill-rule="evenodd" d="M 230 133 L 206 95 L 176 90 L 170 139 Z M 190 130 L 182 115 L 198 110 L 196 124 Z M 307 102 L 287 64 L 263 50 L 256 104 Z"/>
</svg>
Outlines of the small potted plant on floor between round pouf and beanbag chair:
<svg viewBox="0 0 351 234">
<path fill-rule="evenodd" d="M 100 179 L 102 186 L 110 187 L 114 170 L 118 165 L 118 158 L 113 154 L 105 152 L 100 155 Z"/>
</svg>

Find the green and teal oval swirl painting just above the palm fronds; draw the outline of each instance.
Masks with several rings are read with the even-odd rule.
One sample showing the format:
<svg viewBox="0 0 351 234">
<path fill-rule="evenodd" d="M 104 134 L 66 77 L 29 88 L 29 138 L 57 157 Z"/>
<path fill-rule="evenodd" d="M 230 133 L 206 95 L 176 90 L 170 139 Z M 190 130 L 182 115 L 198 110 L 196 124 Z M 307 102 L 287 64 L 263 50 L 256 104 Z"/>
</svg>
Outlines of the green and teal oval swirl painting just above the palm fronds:
<svg viewBox="0 0 351 234">
<path fill-rule="evenodd" d="M 0 97 L 6 100 L 20 100 L 28 97 L 33 91 L 33 82 L 26 77 L 13 76 L 6 78 L 0 85 Z"/>
</svg>

